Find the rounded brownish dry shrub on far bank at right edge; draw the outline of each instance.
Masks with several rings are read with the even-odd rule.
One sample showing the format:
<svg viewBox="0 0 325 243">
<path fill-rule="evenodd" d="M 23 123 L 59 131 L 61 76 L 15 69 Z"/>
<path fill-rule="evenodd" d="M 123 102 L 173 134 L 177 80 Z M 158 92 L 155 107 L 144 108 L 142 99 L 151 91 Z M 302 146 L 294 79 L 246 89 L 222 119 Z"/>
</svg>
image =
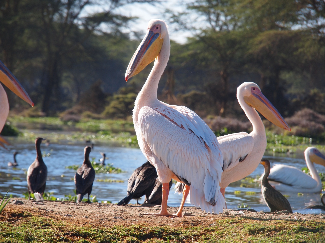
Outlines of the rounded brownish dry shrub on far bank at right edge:
<svg viewBox="0 0 325 243">
<path fill-rule="evenodd" d="M 293 135 L 318 137 L 325 131 L 325 116 L 305 108 L 285 119 Z"/>
</svg>

